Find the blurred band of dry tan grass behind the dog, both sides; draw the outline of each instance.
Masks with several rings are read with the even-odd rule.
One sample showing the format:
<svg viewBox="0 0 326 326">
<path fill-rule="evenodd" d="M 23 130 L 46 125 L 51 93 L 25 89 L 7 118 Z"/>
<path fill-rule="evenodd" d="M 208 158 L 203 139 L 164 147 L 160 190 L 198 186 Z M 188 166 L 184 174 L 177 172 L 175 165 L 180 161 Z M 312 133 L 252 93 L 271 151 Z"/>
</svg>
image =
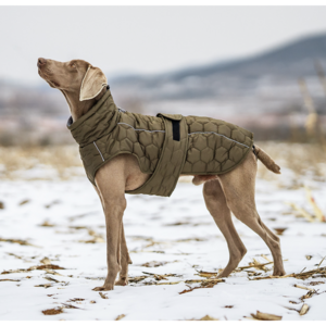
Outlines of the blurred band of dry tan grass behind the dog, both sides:
<svg viewBox="0 0 326 326">
<path fill-rule="evenodd" d="M 287 167 L 292 171 L 293 188 L 303 186 L 300 177 L 306 174 L 312 178 L 326 181 L 325 145 L 274 141 L 258 142 L 258 145 L 281 168 Z M 57 172 L 58 177 L 62 179 L 84 173 L 77 145 L 28 148 L 0 147 L 0 178 L 20 178 L 16 174 L 17 171 L 28 171 L 37 167 L 52 168 Z M 259 164 L 259 177 L 275 180 L 283 179 L 281 176 L 267 171 L 263 164 Z M 187 181 L 190 179 L 187 178 Z"/>
</svg>

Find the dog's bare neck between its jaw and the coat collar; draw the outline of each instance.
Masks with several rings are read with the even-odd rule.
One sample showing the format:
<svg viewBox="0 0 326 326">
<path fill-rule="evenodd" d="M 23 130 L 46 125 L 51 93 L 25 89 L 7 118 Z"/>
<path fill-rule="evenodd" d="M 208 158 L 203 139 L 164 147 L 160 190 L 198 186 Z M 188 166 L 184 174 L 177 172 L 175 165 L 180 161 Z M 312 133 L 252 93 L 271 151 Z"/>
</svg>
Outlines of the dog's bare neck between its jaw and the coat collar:
<svg viewBox="0 0 326 326">
<path fill-rule="evenodd" d="M 106 92 L 106 87 L 102 89 L 102 91 L 91 100 L 79 101 L 79 91 L 66 91 L 61 90 L 64 95 L 71 110 L 71 114 L 73 117 L 73 122 L 76 122 L 84 114 L 86 114 Z"/>
</svg>

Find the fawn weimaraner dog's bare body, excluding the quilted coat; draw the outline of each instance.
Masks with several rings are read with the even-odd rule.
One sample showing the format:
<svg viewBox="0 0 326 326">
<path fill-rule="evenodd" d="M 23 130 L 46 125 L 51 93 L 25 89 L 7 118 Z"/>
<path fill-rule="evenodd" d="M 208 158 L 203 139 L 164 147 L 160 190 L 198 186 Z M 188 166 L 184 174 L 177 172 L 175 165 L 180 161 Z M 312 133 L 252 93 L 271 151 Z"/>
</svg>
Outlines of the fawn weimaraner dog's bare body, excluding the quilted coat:
<svg viewBox="0 0 326 326">
<path fill-rule="evenodd" d="M 38 59 L 39 75 L 64 95 L 76 122 L 105 93 L 106 78 L 102 71 L 84 60 L 58 62 Z M 87 78 L 85 77 L 87 73 Z M 258 146 L 256 156 L 274 173 L 279 166 Z M 256 158 L 251 151 L 233 171 L 218 176 L 195 176 L 193 184 L 203 185 L 206 208 L 224 235 L 229 261 L 217 277 L 227 277 L 247 252 L 231 220 L 234 215 L 255 231 L 269 248 L 274 260 L 275 276 L 285 275 L 279 238 L 262 222 L 254 201 Z M 128 284 L 128 264 L 131 264 L 124 234 L 123 214 L 127 206 L 125 190 L 143 185 L 150 175 L 143 174 L 138 160 L 131 154 L 121 154 L 104 164 L 96 174 L 98 192 L 106 224 L 108 275 L 102 287 L 95 290 L 113 290 L 114 285 Z M 114 187 L 111 187 L 114 185 Z M 116 280 L 116 276 L 120 277 Z"/>
</svg>

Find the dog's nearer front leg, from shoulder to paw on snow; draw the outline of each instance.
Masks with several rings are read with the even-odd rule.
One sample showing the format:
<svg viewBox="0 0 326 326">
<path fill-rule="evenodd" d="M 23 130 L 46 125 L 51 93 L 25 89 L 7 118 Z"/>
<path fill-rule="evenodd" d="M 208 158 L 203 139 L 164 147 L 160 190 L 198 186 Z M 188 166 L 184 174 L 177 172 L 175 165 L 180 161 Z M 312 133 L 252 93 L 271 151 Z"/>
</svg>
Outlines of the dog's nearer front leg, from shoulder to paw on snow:
<svg viewBox="0 0 326 326">
<path fill-rule="evenodd" d="M 105 215 L 108 276 L 104 285 L 93 290 L 109 291 L 113 290 L 116 275 L 121 271 L 122 220 L 127 205 L 125 183 L 118 171 L 114 173 L 111 170 L 108 174 L 105 168 L 97 173 L 96 183 Z"/>
</svg>

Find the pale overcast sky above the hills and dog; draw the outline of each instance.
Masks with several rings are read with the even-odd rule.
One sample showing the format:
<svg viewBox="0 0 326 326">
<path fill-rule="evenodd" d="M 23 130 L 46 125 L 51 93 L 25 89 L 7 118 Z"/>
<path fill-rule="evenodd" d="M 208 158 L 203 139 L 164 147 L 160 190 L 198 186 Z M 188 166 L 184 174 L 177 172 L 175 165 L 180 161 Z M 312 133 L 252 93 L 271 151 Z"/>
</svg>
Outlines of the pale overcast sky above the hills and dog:
<svg viewBox="0 0 326 326">
<path fill-rule="evenodd" d="M 37 58 L 110 76 L 255 54 L 326 33 L 326 7 L 1 7 L 0 78 L 42 83 Z"/>
</svg>

